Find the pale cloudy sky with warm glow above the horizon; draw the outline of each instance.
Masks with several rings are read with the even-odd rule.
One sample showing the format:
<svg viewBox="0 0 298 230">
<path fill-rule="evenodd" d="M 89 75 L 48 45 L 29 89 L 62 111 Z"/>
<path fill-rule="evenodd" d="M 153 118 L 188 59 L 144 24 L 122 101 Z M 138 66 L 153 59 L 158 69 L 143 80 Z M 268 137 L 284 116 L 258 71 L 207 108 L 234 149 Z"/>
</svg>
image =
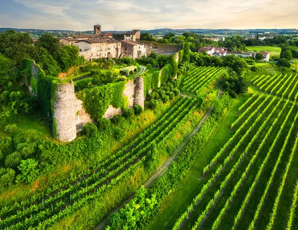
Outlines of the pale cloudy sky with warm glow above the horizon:
<svg viewBox="0 0 298 230">
<path fill-rule="evenodd" d="M 0 27 L 298 28 L 298 0 L 0 0 Z"/>
</svg>

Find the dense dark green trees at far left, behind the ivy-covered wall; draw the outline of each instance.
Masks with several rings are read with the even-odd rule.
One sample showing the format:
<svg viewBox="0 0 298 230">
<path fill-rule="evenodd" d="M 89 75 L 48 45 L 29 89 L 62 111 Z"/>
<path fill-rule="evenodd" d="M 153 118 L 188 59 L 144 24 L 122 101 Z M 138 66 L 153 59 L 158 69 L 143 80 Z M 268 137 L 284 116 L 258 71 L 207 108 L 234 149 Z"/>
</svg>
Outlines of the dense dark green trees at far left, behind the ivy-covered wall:
<svg viewBox="0 0 298 230">
<path fill-rule="evenodd" d="M 34 59 L 46 75 L 52 77 L 57 77 L 59 72 L 68 71 L 72 66 L 84 63 L 77 47 L 60 47 L 60 40 L 51 34 L 43 34 L 33 44 L 29 33 L 6 30 L 0 33 L 0 53 L 17 63 L 25 58 Z"/>
</svg>

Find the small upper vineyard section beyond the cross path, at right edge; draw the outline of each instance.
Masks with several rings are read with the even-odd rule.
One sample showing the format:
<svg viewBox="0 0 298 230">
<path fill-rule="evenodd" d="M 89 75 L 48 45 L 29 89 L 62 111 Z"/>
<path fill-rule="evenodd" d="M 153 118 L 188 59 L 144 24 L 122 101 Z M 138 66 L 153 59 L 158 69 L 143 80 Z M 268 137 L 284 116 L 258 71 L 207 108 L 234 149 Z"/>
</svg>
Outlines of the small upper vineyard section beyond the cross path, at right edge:
<svg viewBox="0 0 298 230">
<path fill-rule="evenodd" d="M 284 99 L 294 100 L 298 91 L 298 75 L 256 76 L 251 80 L 261 92 L 276 95 Z"/>
</svg>

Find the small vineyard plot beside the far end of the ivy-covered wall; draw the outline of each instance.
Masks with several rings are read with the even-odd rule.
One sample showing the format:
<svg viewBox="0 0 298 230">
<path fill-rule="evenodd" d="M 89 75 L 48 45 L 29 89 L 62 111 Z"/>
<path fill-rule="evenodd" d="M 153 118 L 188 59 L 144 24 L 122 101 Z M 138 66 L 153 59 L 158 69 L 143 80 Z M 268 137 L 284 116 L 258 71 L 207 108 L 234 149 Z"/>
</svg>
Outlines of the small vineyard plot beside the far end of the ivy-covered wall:
<svg viewBox="0 0 298 230">
<path fill-rule="evenodd" d="M 183 79 L 182 92 L 187 94 L 197 94 L 198 91 L 206 87 L 213 79 L 219 76 L 224 68 L 201 67 L 192 70 Z"/>
</svg>

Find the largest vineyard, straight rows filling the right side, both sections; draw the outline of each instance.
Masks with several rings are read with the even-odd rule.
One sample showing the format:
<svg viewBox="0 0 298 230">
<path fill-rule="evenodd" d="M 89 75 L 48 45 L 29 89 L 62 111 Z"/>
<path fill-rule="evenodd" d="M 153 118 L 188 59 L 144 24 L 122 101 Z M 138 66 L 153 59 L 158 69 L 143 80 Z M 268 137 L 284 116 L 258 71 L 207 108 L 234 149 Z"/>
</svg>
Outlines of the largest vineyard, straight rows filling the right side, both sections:
<svg viewBox="0 0 298 230">
<path fill-rule="evenodd" d="M 230 138 L 204 166 L 187 208 L 164 229 L 298 228 L 297 77 L 251 80 L 259 92 L 238 107 Z"/>
</svg>

